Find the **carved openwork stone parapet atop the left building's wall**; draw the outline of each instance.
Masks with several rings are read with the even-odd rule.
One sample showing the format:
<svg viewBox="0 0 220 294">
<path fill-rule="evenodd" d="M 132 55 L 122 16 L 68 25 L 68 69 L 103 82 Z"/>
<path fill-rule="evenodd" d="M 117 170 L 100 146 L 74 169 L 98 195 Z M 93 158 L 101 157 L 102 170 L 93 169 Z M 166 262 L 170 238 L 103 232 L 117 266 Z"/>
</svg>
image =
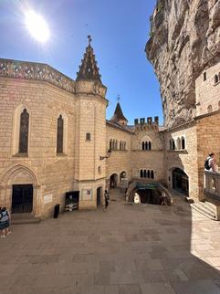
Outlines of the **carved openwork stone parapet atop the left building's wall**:
<svg viewBox="0 0 220 294">
<path fill-rule="evenodd" d="M 60 89 L 75 92 L 75 81 L 47 64 L 0 58 L 0 78 L 47 81 Z"/>
</svg>

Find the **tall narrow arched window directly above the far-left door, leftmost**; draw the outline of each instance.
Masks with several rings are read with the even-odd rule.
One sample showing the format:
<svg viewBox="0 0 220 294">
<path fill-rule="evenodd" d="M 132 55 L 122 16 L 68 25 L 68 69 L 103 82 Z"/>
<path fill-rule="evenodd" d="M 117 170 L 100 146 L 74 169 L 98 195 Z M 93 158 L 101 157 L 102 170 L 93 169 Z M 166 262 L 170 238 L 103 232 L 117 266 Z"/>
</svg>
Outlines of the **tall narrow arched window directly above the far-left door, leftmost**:
<svg viewBox="0 0 220 294">
<path fill-rule="evenodd" d="M 20 115 L 20 131 L 19 131 L 19 153 L 28 152 L 28 129 L 29 129 L 29 114 L 25 110 Z"/>
</svg>

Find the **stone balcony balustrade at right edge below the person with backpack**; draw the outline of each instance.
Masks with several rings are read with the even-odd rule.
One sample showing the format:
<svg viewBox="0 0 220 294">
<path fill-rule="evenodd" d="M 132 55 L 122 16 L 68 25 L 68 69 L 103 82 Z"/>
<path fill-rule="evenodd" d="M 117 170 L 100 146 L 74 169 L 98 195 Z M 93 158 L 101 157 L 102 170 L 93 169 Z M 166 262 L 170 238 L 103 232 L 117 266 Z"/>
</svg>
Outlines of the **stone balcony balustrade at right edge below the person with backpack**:
<svg viewBox="0 0 220 294">
<path fill-rule="evenodd" d="M 220 201 L 220 173 L 204 172 L 204 194 Z"/>
</svg>

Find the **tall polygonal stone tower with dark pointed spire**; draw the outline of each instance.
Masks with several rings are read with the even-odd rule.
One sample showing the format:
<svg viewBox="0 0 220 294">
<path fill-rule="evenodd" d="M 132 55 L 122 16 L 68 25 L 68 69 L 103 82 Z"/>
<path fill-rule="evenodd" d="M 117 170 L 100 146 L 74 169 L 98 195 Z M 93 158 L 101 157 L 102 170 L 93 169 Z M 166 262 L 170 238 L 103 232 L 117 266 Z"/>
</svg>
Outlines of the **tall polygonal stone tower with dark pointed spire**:
<svg viewBox="0 0 220 294">
<path fill-rule="evenodd" d="M 80 191 L 80 205 L 100 204 L 106 184 L 107 88 L 100 79 L 93 48 L 89 45 L 76 79 L 76 144 L 74 190 Z M 104 158 L 103 158 L 104 157 Z M 99 199 L 97 199 L 99 198 Z"/>
</svg>

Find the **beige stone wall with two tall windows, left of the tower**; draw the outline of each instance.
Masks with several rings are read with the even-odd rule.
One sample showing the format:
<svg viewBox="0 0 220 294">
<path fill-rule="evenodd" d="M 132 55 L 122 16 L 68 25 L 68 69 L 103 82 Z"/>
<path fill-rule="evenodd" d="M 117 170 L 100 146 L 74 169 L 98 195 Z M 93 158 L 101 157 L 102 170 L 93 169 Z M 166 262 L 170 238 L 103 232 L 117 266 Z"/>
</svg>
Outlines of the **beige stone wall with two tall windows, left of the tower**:
<svg viewBox="0 0 220 294">
<path fill-rule="evenodd" d="M 10 207 L 12 184 L 33 184 L 34 214 L 50 215 L 55 204 L 64 205 L 65 192 L 72 190 L 75 102 L 70 93 L 47 82 L 1 78 L 0 85 L 1 204 Z M 19 108 L 29 113 L 28 156 L 19 156 L 15 146 Z M 60 156 L 56 148 L 59 114 L 65 114 L 68 119 L 67 153 Z M 20 179 L 20 173 L 26 176 Z M 31 180 L 28 174 L 32 173 Z M 44 205 L 47 194 L 52 194 L 53 200 Z"/>
</svg>

